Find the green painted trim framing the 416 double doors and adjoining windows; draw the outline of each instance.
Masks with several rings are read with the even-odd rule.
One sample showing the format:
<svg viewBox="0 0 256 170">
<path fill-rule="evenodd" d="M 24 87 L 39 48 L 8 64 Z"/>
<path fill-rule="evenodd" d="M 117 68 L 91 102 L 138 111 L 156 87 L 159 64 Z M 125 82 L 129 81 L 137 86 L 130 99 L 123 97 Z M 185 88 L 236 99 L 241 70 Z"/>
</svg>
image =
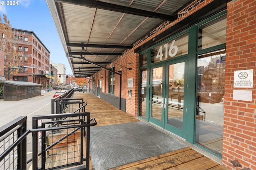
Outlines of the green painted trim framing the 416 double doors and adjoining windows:
<svg viewBox="0 0 256 170">
<path fill-rule="evenodd" d="M 155 123 L 156 125 L 169 130 L 171 133 L 174 134 L 178 134 L 180 137 L 186 139 L 186 141 L 188 143 L 191 143 L 193 145 L 195 144 L 195 134 L 196 134 L 196 82 L 197 82 L 197 58 L 198 58 L 198 54 L 201 53 L 206 53 L 206 52 L 210 52 L 210 51 L 215 51 L 218 49 L 225 49 L 226 48 L 226 43 L 223 43 L 221 45 L 216 45 L 214 47 L 210 47 L 207 49 L 203 49 L 203 50 L 198 50 L 198 28 L 201 25 L 204 25 L 205 23 L 208 23 L 218 17 L 224 16 L 227 14 L 227 10 L 224 10 L 214 16 L 211 16 L 209 18 L 207 18 L 206 20 L 200 21 L 199 23 L 192 25 L 191 27 L 188 27 L 187 29 L 185 29 L 184 31 L 181 31 L 175 35 L 172 35 L 171 37 L 168 37 L 166 39 L 164 39 L 163 41 L 160 41 L 154 45 L 152 45 L 150 48 L 148 48 L 147 50 L 144 50 L 142 53 L 147 52 L 148 53 L 148 63 L 147 66 L 143 66 L 140 67 L 141 68 L 147 68 L 147 87 L 146 87 L 146 98 L 147 100 L 150 100 L 150 103 L 147 102 L 146 104 L 146 113 L 148 113 L 148 115 L 146 115 L 146 121 L 151 121 L 152 123 Z M 178 56 L 178 57 L 174 57 L 168 60 L 164 60 L 164 61 L 160 61 L 158 63 L 153 63 L 151 64 L 151 50 L 154 49 L 155 47 L 162 45 L 164 43 L 166 43 L 167 41 L 171 41 L 172 39 L 175 39 L 176 37 L 179 37 L 180 35 L 187 33 L 189 34 L 188 36 L 188 54 L 186 55 L 182 55 L 182 56 Z M 140 55 L 142 54 L 140 53 Z M 166 125 L 165 121 L 166 118 L 166 113 L 164 113 L 163 108 L 162 108 L 162 121 L 159 120 L 152 120 L 154 118 L 150 118 L 151 113 L 151 100 L 152 100 L 152 88 L 149 88 L 148 84 L 151 84 L 150 80 L 152 77 L 152 73 L 150 73 L 150 70 L 152 70 L 152 68 L 156 68 L 159 66 L 163 66 L 163 76 L 166 76 L 166 70 L 168 70 L 167 66 L 170 63 L 175 63 L 176 60 L 181 61 L 182 58 L 186 61 L 188 61 L 188 67 L 187 67 L 187 72 L 185 71 L 185 82 L 184 82 L 184 86 L 185 84 L 188 84 L 188 89 L 184 90 L 184 124 L 185 126 L 183 126 L 183 131 L 182 134 L 179 134 L 178 132 L 176 133 L 175 129 L 173 129 L 171 127 L 168 127 L 168 125 Z M 186 66 L 185 66 L 186 68 Z M 164 88 L 165 86 L 165 82 L 166 81 L 166 77 L 163 77 L 163 92 L 162 95 L 163 97 L 165 97 L 168 93 L 166 92 L 166 88 Z M 150 86 L 152 87 L 152 86 Z M 165 90 L 165 91 L 164 91 Z M 187 111 L 186 111 L 187 110 Z M 163 115 L 165 117 L 163 117 Z M 143 117 L 142 117 L 143 118 Z M 213 154 L 214 156 L 218 157 L 218 158 L 222 158 L 220 155 L 215 154 L 214 152 L 211 152 L 210 150 L 207 150 L 203 147 L 201 147 L 200 145 L 196 145 L 198 148 L 201 148 L 203 150 L 206 150 L 207 152 Z"/>
</svg>

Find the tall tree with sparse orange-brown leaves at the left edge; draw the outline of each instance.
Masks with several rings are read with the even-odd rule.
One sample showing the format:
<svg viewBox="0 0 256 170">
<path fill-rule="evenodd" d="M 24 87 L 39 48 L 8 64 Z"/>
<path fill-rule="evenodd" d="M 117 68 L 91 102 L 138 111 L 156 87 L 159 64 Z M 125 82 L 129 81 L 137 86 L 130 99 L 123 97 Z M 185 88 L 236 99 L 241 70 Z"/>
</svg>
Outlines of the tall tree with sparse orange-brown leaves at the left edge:
<svg viewBox="0 0 256 170">
<path fill-rule="evenodd" d="M 4 50 L 4 75 L 8 75 L 8 66 L 18 67 L 20 64 L 21 53 L 18 52 L 18 38 L 15 35 L 15 30 L 12 29 L 10 21 L 6 15 L 0 16 L 0 48 Z M 11 77 L 18 73 L 18 69 L 11 69 Z"/>
</svg>

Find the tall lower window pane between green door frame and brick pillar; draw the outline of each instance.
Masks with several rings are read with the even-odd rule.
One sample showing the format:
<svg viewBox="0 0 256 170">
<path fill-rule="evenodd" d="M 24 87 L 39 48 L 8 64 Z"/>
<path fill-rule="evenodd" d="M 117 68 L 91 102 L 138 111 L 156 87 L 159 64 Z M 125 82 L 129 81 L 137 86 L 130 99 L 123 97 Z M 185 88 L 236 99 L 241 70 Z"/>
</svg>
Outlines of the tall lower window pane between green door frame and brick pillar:
<svg viewBox="0 0 256 170">
<path fill-rule="evenodd" d="M 198 55 L 196 143 L 222 155 L 225 49 Z"/>
</svg>

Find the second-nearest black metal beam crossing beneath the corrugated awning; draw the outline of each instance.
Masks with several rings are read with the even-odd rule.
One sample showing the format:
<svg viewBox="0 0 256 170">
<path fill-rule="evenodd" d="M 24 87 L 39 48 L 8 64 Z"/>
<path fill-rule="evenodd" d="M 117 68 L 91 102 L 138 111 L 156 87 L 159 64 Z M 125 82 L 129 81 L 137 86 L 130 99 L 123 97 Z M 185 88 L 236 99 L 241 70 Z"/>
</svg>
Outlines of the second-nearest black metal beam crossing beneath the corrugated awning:
<svg viewBox="0 0 256 170">
<path fill-rule="evenodd" d="M 84 43 L 67 43 L 67 47 L 95 47 L 95 48 L 112 48 L 112 49 L 131 49 L 132 46 L 126 45 L 104 45 L 104 44 L 84 44 Z"/>
</svg>

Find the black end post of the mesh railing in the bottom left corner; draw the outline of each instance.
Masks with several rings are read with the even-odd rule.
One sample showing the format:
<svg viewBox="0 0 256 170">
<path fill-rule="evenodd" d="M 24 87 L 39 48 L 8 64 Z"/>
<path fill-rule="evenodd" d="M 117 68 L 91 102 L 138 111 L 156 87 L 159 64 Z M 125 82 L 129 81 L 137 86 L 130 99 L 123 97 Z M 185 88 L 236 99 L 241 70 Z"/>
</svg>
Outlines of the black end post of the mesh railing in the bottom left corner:
<svg viewBox="0 0 256 170">
<path fill-rule="evenodd" d="M 17 130 L 18 131 L 18 138 L 20 138 L 23 133 L 27 131 L 27 117 L 25 121 L 23 121 L 20 125 L 21 127 Z M 18 165 L 17 169 L 27 169 L 27 138 L 23 139 L 22 142 L 18 144 Z"/>
</svg>

